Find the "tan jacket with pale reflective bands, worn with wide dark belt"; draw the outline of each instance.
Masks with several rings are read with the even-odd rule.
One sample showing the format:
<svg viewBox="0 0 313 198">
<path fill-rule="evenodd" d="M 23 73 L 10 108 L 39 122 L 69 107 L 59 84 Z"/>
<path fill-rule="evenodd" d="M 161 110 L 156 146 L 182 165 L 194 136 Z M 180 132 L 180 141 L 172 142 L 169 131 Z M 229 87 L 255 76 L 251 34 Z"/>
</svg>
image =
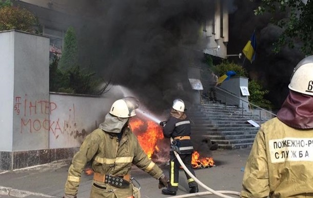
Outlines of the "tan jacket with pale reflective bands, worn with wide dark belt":
<svg viewBox="0 0 313 198">
<path fill-rule="evenodd" d="M 159 178 L 163 173 L 147 157 L 129 127 L 124 129 L 120 141 L 116 135 L 96 129 L 86 137 L 80 150 L 73 157 L 68 171 L 65 194 L 77 194 L 81 175 L 88 161 L 91 161 L 92 169 L 101 174 L 116 176 L 130 174 L 132 163 L 154 178 Z M 91 197 L 128 197 L 132 195 L 132 185 L 127 189 L 122 189 L 101 182 L 93 181 L 93 183 L 103 189 L 92 185 Z"/>
</svg>

